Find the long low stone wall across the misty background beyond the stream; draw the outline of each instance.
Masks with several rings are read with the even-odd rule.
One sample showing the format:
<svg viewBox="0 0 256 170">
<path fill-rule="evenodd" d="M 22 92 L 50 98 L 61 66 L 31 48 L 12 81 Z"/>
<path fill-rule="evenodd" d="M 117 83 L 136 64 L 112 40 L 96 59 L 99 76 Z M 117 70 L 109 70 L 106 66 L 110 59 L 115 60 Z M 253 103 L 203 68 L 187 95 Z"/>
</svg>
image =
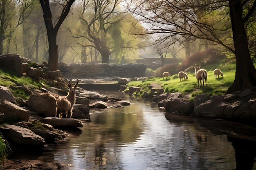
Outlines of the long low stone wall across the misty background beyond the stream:
<svg viewBox="0 0 256 170">
<path fill-rule="evenodd" d="M 67 77 L 145 77 L 146 66 L 144 64 L 88 64 L 76 63 L 58 65 L 61 73 Z"/>
</svg>

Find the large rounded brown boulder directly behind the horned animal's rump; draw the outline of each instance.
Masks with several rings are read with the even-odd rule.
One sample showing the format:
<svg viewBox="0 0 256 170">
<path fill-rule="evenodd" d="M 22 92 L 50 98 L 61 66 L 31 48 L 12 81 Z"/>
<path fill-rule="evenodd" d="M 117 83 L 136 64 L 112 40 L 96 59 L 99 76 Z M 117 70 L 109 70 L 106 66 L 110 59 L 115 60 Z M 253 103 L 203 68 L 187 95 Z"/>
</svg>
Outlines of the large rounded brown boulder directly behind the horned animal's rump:
<svg viewBox="0 0 256 170">
<path fill-rule="evenodd" d="M 27 101 L 27 106 L 43 117 L 55 117 L 57 102 L 50 93 L 34 93 Z"/>
</svg>

